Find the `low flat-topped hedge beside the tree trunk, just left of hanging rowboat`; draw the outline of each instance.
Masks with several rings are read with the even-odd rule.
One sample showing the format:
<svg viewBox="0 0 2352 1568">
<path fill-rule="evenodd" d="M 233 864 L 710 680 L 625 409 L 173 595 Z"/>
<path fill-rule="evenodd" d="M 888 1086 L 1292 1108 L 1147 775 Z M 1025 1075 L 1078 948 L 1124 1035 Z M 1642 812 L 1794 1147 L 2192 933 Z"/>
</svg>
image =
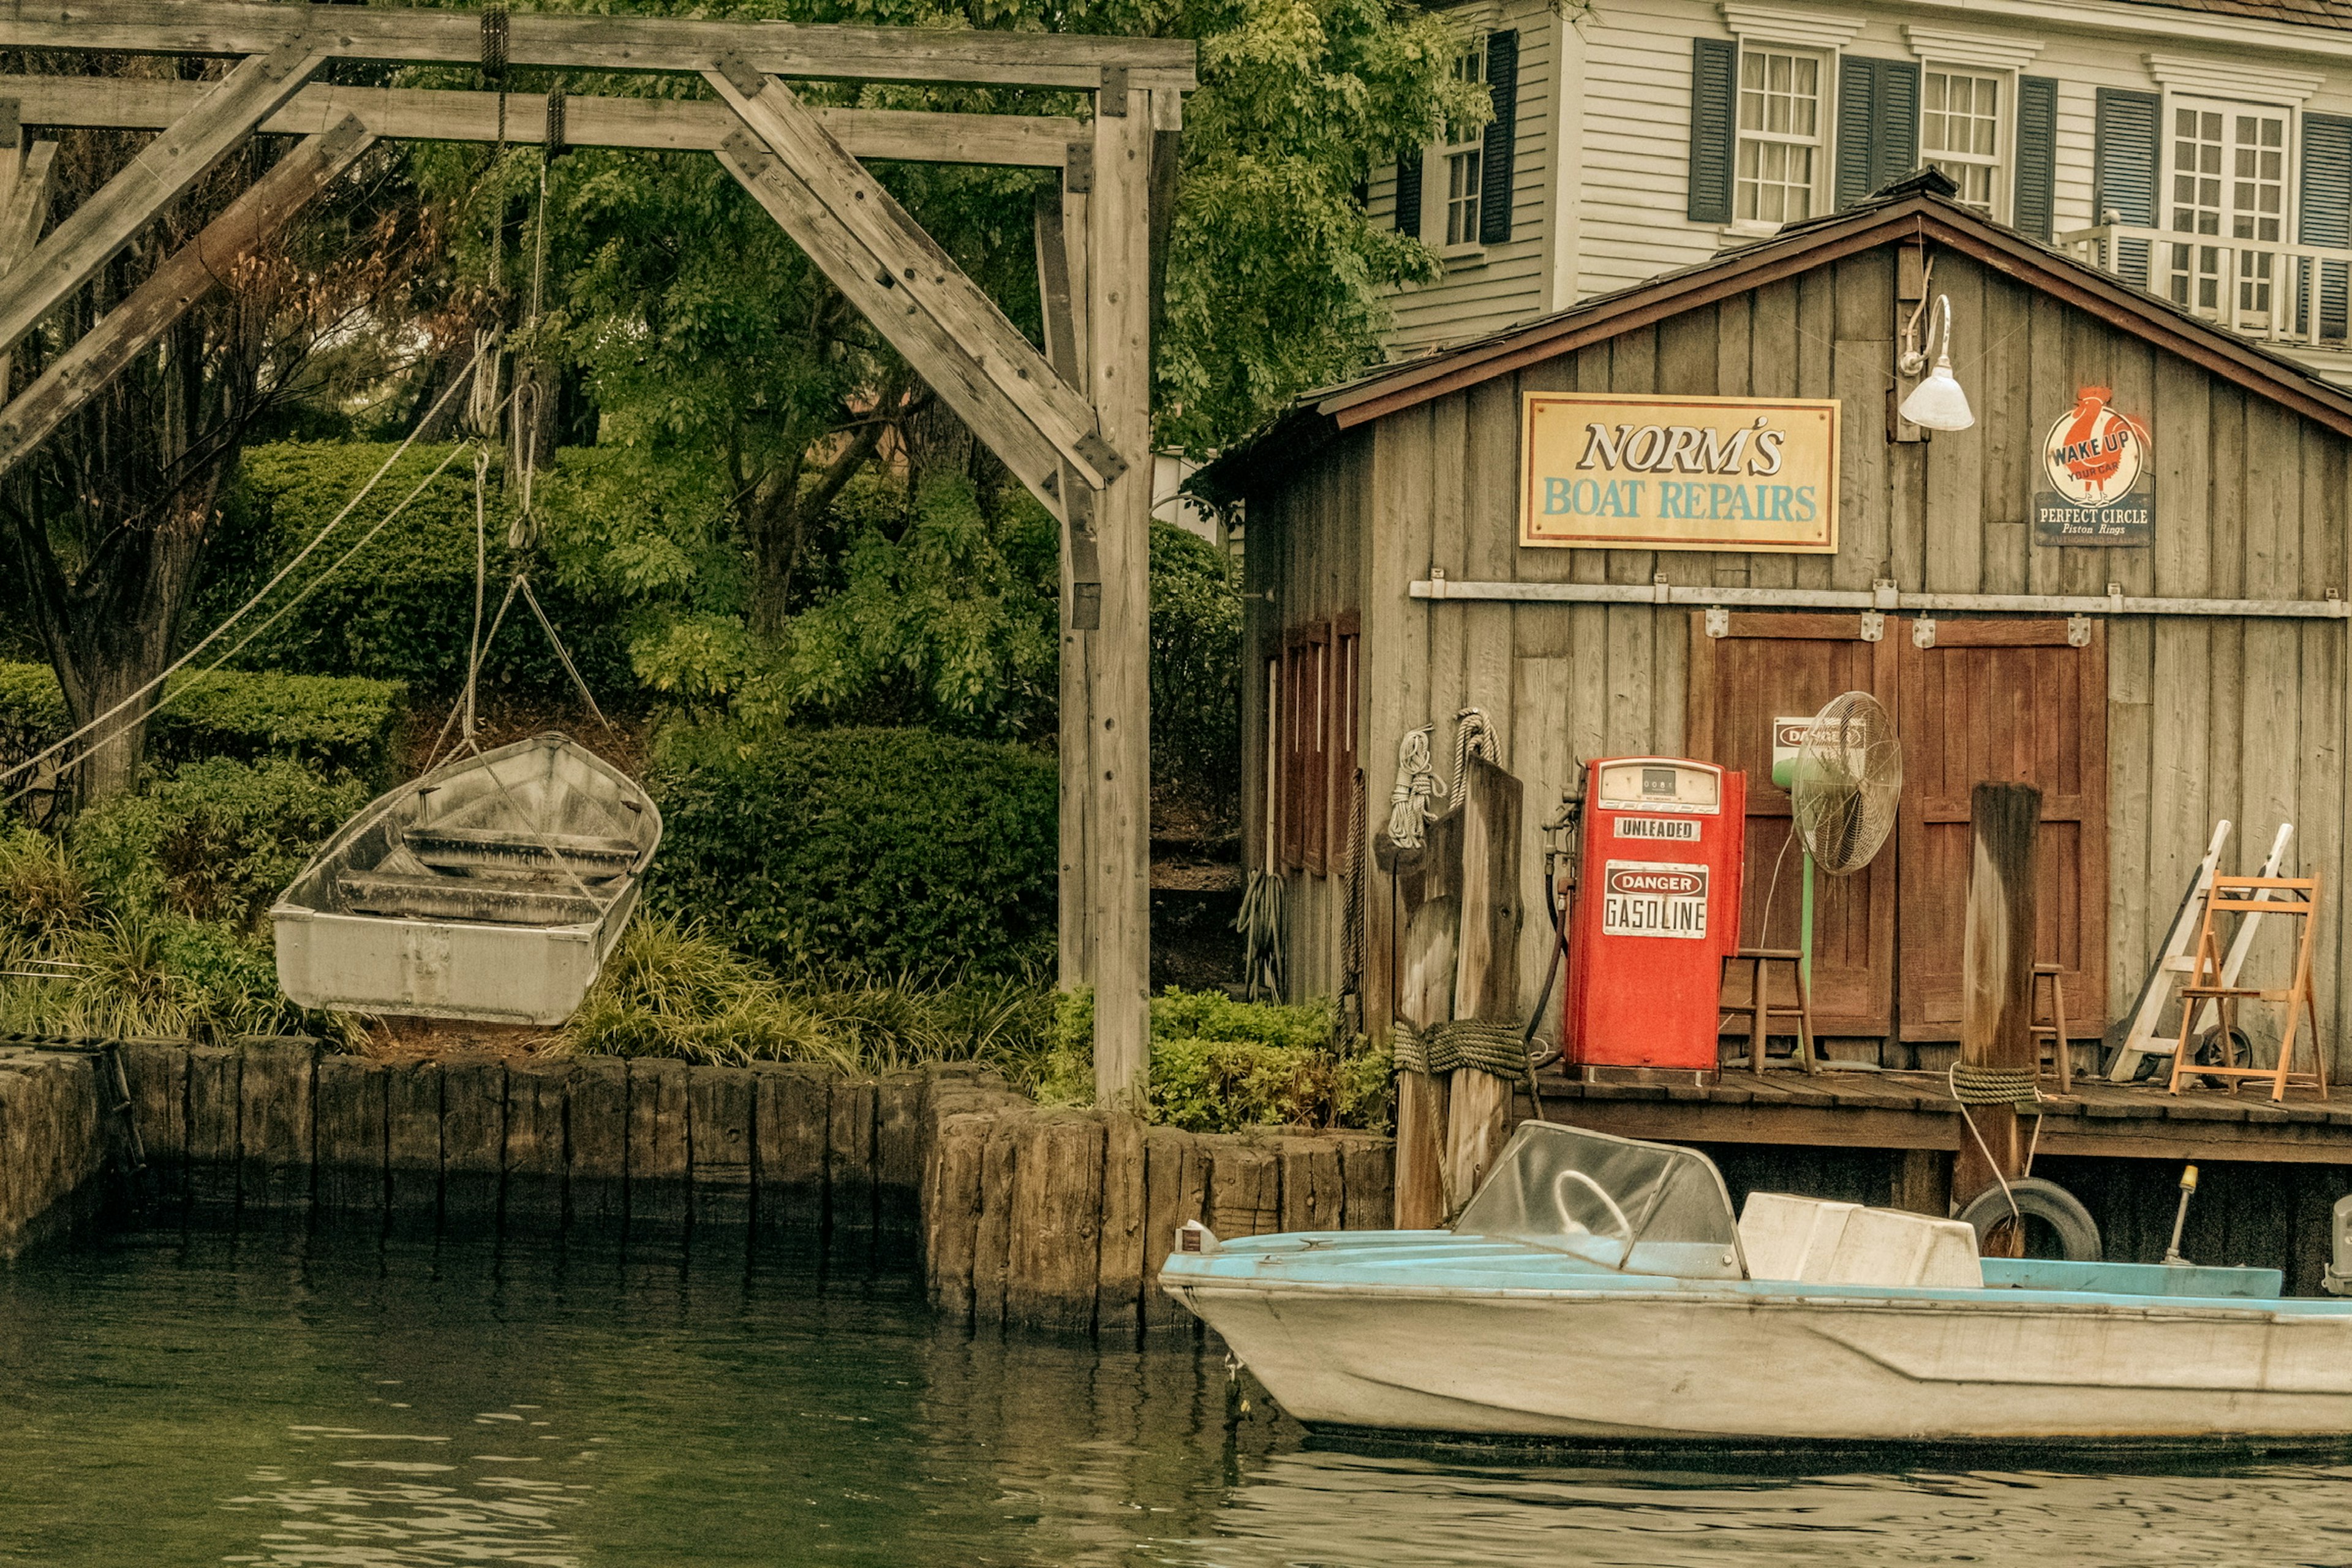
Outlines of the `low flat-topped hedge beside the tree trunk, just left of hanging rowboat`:
<svg viewBox="0 0 2352 1568">
<path fill-rule="evenodd" d="M 148 719 L 148 762 L 289 757 L 386 788 L 400 733 L 400 682 L 214 670 L 174 675 Z M 0 663 L 0 759 L 24 759 L 73 733 L 56 672 Z"/>
</svg>

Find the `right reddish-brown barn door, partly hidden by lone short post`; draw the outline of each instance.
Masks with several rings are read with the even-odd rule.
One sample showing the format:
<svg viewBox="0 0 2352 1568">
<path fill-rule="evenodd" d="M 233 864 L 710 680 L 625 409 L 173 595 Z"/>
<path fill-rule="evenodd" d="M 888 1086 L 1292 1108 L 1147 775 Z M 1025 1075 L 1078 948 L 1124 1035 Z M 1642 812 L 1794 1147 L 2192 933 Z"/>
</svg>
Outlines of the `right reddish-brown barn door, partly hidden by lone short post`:
<svg viewBox="0 0 2352 1568">
<path fill-rule="evenodd" d="M 2096 621 L 2079 649 L 2065 630 L 1938 621 L 1926 649 L 1903 637 L 1903 1039 L 1959 1039 L 1969 790 L 1983 780 L 2042 788 L 2034 961 L 2063 966 L 2070 1027 L 2107 1020 L 2107 639 Z"/>
</svg>

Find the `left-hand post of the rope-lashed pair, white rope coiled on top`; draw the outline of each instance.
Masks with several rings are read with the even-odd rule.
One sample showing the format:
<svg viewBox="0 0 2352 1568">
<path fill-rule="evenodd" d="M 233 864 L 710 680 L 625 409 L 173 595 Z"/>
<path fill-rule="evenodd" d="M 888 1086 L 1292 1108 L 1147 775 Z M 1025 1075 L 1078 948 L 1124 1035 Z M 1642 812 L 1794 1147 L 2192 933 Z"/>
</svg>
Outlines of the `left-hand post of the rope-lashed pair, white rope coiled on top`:
<svg viewBox="0 0 2352 1568">
<path fill-rule="evenodd" d="M 1404 905 L 1404 952 L 1397 964 L 1397 1016 L 1428 1030 L 1454 1016 L 1454 933 L 1461 924 L 1461 818 L 1428 827 L 1421 849 L 1374 844 L 1397 877 Z M 1435 1229 L 1446 1220 L 1446 1084 L 1425 1072 L 1397 1074 L 1397 1229 Z"/>
</svg>

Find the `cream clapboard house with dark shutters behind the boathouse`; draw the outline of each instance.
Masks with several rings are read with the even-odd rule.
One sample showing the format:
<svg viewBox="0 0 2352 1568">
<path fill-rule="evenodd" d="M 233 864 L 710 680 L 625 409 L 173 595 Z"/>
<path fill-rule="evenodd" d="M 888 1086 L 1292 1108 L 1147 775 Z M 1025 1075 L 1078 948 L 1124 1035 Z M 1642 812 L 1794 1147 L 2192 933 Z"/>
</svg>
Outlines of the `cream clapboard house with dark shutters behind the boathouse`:
<svg viewBox="0 0 2352 1568">
<path fill-rule="evenodd" d="M 1496 120 L 1383 172 L 1458 343 L 1933 165 L 1999 223 L 2352 381 L 2352 0 L 1479 0 Z"/>
</svg>

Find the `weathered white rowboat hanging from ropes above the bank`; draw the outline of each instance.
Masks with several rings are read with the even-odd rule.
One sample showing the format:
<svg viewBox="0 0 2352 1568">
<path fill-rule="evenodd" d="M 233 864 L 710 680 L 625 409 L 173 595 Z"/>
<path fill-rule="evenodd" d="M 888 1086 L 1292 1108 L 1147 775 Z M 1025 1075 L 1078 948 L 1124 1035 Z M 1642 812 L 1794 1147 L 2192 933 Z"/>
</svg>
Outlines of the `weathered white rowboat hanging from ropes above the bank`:
<svg viewBox="0 0 2352 1568">
<path fill-rule="evenodd" d="M 301 1006 L 555 1025 L 621 938 L 661 811 L 567 736 L 433 769 L 343 825 L 278 896 Z"/>
</svg>

